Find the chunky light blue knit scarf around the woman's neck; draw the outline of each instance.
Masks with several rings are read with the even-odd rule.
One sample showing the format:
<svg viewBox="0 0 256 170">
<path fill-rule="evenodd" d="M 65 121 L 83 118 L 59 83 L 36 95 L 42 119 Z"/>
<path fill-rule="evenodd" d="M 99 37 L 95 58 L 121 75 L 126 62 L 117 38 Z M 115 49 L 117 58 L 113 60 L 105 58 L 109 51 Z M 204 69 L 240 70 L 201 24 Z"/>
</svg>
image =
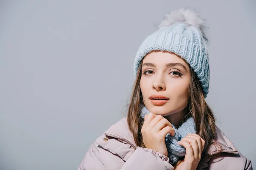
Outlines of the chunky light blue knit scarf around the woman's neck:
<svg viewBox="0 0 256 170">
<path fill-rule="evenodd" d="M 145 106 L 141 110 L 141 118 L 144 119 L 144 116 L 148 114 L 149 111 Z M 173 166 L 181 159 L 182 156 L 185 156 L 186 149 L 183 146 L 177 144 L 183 137 L 188 133 L 195 133 L 195 121 L 192 117 L 186 120 L 178 129 L 175 128 L 175 136 L 171 136 L 169 133 L 166 135 L 166 147 L 168 151 L 169 163 Z"/>
</svg>

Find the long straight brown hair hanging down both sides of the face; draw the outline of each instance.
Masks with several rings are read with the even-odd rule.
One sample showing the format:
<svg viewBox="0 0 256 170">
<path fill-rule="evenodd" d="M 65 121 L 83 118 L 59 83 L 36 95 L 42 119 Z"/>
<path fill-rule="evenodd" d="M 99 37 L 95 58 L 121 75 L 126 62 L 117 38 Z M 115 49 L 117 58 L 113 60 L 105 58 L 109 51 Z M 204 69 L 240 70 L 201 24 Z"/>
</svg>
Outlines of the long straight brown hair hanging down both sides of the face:
<svg viewBox="0 0 256 170">
<path fill-rule="evenodd" d="M 138 67 L 137 76 L 134 82 L 133 91 L 128 105 L 127 122 L 128 126 L 133 133 L 134 141 L 139 147 L 145 147 L 141 134 L 141 127 L 143 119 L 140 119 L 140 110 L 142 109 L 143 96 L 140 90 L 140 78 L 142 76 L 143 61 L 140 62 Z M 196 133 L 201 136 L 205 141 L 205 148 L 212 144 L 212 140 L 216 136 L 215 117 L 204 99 L 204 93 L 198 77 L 189 66 L 191 81 L 189 84 L 189 102 L 186 107 L 184 119 L 192 116 L 195 120 Z"/>
</svg>

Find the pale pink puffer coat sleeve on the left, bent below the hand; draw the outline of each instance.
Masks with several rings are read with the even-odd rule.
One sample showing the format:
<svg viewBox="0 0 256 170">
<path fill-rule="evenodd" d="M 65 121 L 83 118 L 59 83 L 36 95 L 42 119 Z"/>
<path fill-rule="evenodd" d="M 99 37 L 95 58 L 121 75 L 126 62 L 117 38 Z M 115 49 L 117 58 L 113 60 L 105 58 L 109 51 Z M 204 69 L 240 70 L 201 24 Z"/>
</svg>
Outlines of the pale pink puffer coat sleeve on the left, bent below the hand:
<svg viewBox="0 0 256 170">
<path fill-rule="evenodd" d="M 137 147 L 124 161 L 120 156 L 94 143 L 87 151 L 78 170 L 173 170 L 169 158 L 157 151 Z"/>
</svg>

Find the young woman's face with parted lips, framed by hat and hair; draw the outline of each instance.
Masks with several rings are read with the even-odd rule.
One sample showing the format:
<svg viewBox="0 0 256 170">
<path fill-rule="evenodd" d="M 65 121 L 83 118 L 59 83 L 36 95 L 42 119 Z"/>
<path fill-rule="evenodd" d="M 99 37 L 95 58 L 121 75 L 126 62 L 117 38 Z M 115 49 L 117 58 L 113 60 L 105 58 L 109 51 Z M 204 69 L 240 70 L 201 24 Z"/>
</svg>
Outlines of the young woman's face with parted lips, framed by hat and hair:
<svg viewBox="0 0 256 170">
<path fill-rule="evenodd" d="M 189 65 L 175 53 L 152 51 L 144 57 L 140 89 L 148 111 L 162 116 L 183 112 L 188 104 L 189 83 Z"/>
</svg>

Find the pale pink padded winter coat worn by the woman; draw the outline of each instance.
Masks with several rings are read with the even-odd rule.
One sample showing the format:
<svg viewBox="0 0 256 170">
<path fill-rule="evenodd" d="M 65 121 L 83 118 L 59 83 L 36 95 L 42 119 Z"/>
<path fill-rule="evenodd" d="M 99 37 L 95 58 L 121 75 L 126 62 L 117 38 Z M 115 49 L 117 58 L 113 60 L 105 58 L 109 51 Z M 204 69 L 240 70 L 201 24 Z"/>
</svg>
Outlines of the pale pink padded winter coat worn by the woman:
<svg viewBox="0 0 256 170">
<path fill-rule="evenodd" d="M 197 170 L 252 170 L 252 161 L 244 157 L 217 127 L 217 142 L 223 153 L 215 159 L 202 157 Z M 209 146 L 210 155 L 219 148 Z M 91 145 L 78 170 L 173 170 L 169 158 L 157 151 L 137 147 L 127 119 L 112 125 Z"/>
</svg>

